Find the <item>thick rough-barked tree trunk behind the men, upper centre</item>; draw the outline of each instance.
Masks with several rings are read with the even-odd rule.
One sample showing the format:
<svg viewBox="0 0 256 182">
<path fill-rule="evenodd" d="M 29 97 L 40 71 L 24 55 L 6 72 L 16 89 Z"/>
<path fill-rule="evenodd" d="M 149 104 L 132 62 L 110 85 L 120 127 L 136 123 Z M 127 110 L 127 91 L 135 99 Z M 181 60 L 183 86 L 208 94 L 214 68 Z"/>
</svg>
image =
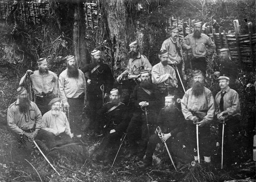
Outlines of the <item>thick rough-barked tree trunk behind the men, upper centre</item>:
<svg viewBox="0 0 256 182">
<path fill-rule="evenodd" d="M 127 15 L 124 0 L 102 0 L 105 9 L 108 38 L 114 61 L 114 76 L 118 76 L 128 63 Z"/>
</svg>

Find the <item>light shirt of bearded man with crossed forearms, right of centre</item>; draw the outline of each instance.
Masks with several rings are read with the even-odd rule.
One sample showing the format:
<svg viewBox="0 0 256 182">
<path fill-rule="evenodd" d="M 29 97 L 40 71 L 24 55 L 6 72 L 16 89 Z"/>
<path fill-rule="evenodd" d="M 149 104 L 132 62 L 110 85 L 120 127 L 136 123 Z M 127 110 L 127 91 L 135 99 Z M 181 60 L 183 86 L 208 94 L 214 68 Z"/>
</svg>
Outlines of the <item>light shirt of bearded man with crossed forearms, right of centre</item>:
<svg viewBox="0 0 256 182">
<path fill-rule="evenodd" d="M 161 62 L 153 66 L 151 72 L 152 83 L 158 85 L 160 88 L 173 87 L 171 84 L 165 85 L 164 82 L 169 79 L 169 75 L 172 76 L 172 84 L 176 85 L 178 80 L 176 78 L 176 73 L 173 67 L 170 65 L 164 66 Z"/>
</svg>

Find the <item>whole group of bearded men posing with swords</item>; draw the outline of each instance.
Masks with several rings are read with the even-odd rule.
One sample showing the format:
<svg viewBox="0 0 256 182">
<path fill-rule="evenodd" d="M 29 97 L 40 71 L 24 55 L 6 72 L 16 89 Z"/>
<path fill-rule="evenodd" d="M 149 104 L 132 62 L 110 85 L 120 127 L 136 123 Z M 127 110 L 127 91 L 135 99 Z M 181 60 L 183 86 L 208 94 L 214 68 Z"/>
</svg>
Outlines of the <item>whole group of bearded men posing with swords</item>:
<svg viewBox="0 0 256 182">
<path fill-rule="evenodd" d="M 9 129 L 19 140 L 45 140 L 52 149 L 72 141 L 73 137 L 82 136 L 83 107 L 88 102 L 90 129 L 93 133 L 102 132 L 105 135 L 92 159 L 109 163 L 112 160 L 109 156 L 117 152 L 115 147 L 119 145 L 120 138 L 127 136 L 130 152 L 126 157 L 139 161 L 146 155 L 140 165 L 145 168 L 152 164 L 156 144 L 161 142 L 168 144 L 178 163 L 184 162 L 186 156 L 181 152 L 185 146 L 184 138 L 194 160 L 198 161 L 196 126 L 199 126 L 201 160 L 210 163 L 210 123 L 215 116 L 228 128 L 224 134 L 224 145 L 227 146 L 224 159 L 230 166 L 233 162 L 231 158 L 235 157 L 232 154 L 236 150 L 234 144 L 239 129 L 240 105 L 238 94 L 229 87 L 229 82 L 233 82 L 237 75 L 232 70 L 233 75 L 217 78 L 221 91 L 214 100 L 204 81 L 206 56 L 214 52 L 215 44 L 201 33 L 201 22 L 194 23 L 194 33 L 186 36 L 182 44 L 178 40 L 178 28 L 172 26 L 169 31 L 171 36 L 163 42 L 159 52 L 161 61 L 153 67 L 139 52 L 137 41 L 129 44 L 129 61 L 125 71 L 116 79 L 120 83 L 118 88 L 113 88 L 111 69 L 103 63 L 99 50 L 91 52 L 92 63 L 81 69 L 77 68 L 74 56 L 65 57 L 67 68 L 59 78 L 48 70 L 46 58 L 37 60 L 39 69 L 34 72 L 27 70 L 16 92 L 17 101 L 8 108 Z M 192 88 L 186 92 L 184 89 L 185 95 L 182 87 L 187 76 L 183 50 L 191 51 L 193 70 Z M 227 49 L 220 50 L 220 53 L 223 52 Z M 230 64 L 224 54 L 216 75 L 228 73 L 223 72 L 225 63 Z M 31 83 L 35 103 L 29 101 L 25 88 L 27 83 Z M 128 90 L 126 97 L 121 93 L 124 89 Z M 103 102 L 102 106 L 107 93 L 110 102 Z M 120 102 L 121 95 L 124 103 Z M 183 98 L 177 100 L 178 97 Z M 63 111 L 68 111 L 68 117 Z M 156 132 L 157 126 L 162 129 L 161 137 Z M 221 127 L 222 124 L 219 133 Z"/>
</svg>

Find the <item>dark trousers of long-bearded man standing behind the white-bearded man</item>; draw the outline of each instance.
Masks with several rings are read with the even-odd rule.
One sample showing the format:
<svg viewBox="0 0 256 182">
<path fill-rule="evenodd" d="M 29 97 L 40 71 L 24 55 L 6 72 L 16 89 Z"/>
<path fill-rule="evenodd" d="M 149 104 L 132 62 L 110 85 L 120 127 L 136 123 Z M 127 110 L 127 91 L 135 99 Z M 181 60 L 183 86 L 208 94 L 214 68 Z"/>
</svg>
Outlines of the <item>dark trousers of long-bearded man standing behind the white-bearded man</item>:
<svg viewBox="0 0 256 182">
<path fill-rule="evenodd" d="M 82 113 L 84 98 L 67 98 L 69 104 L 69 125 L 71 133 L 79 135 L 82 132 Z"/>
</svg>

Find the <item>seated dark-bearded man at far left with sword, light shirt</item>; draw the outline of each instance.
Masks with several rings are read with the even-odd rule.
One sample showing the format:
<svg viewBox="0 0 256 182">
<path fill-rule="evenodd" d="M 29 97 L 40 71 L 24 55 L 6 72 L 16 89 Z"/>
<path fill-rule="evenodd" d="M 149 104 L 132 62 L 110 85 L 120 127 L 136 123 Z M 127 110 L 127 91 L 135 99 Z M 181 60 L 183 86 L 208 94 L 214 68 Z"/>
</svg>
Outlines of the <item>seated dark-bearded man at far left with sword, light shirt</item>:
<svg viewBox="0 0 256 182">
<path fill-rule="evenodd" d="M 18 99 L 7 110 L 7 125 L 19 142 L 45 140 L 49 143 L 53 140 L 51 133 L 41 129 L 42 114 L 34 102 L 29 101 L 27 90 L 19 87 L 16 94 Z"/>
</svg>

